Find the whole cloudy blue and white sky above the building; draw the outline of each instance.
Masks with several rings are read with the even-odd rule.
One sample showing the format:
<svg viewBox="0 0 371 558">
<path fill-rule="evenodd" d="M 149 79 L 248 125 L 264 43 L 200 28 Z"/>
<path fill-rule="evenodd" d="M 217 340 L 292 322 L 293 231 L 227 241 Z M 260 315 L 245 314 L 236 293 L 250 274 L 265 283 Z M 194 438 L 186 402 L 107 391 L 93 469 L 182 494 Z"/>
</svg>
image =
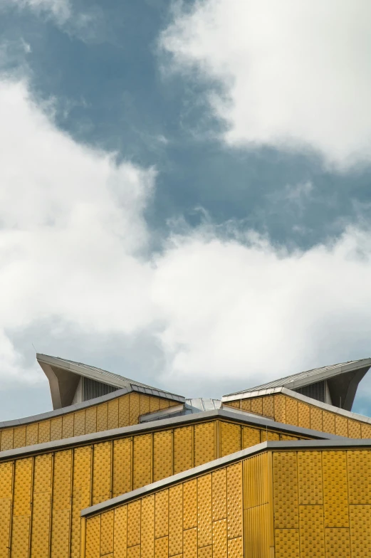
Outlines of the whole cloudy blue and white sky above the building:
<svg viewBox="0 0 371 558">
<path fill-rule="evenodd" d="M 369 0 L 0 0 L 0 37 L 0 419 L 51 409 L 35 348 L 214 397 L 371 356 Z"/>
</svg>

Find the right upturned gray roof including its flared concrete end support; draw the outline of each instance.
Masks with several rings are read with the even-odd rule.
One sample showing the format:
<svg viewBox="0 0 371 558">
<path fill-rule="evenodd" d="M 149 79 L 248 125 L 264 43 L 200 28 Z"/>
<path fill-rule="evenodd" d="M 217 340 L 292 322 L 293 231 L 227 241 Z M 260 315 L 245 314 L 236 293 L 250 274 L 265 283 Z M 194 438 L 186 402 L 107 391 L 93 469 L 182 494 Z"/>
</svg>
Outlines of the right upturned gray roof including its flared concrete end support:
<svg viewBox="0 0 371 558">
<path fill-rule="evenodd" d="M 352 409 L 357 386 L 370 367 L 371 358 L 340 362 L 340 364 L 331 364 L 326 367 L 305 370 L 305 372 L 291 374 L 291 376 L 269 381 L 266 384 L 254 386 L 242 391 L 236 391 L 233 394 L 223 396 L 221 400 L 231 401 L 233 399 L 239 399 L 243 394 L 249 394 L 249 392 L 252 391 L 261 391 L 276 387 L 285 387 L 286 389 L 295 390 L 303 386 L 315 384 L 318 381 L 339 377 L 336 382 L 333 382 L 330 388 L 330 391 L 331 389 L 333 391 L 331 394 L 333 403 L 337 403 L 341 398 L 341 401 L 343 401 L 342 407 L 350 411 Z"/>
</svg>

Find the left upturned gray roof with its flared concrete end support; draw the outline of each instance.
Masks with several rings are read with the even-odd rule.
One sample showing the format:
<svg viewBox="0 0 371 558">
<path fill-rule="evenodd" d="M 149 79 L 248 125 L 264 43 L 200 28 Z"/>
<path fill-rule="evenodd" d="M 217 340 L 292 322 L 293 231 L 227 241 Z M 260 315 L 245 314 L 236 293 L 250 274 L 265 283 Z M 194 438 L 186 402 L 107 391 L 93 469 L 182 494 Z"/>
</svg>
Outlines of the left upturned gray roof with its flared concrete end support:
<svg viewBox="0 0 371 558">
<path fill-rule="evenodd" d="M 169 391 L 157 389 L 147 384 L 142 384 L 140 381 L 120 376 L 120 374 L 113 374 L 113 372 L 83 364 L 82 362 L 75 362 L 73 360 L 52 357 L 51 355 L 40 353 L 36 354 L 36 359 L 49 380 L 53 409 L 61 409 L 62 407 L 73 404 L 73 397 L 80 377 L 100 381 L 103 384 L 112 386 L 113 389 L 140 391 L 144 394 L 154 395 L 164 399 L 173 399 L 181 403 L 185 401 L 183 396 L 172 394 Z"/>
</svg>

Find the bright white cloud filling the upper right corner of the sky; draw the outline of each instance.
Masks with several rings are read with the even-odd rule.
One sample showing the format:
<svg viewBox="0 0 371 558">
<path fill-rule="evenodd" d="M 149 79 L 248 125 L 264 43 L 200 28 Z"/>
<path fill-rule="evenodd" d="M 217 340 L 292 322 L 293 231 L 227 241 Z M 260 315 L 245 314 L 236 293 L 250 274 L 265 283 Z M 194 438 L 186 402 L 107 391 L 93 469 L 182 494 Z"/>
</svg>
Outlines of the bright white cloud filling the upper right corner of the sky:
<svg viewBox="0 0 371 558">
<path fill-rule="evenodd" d="M 370 1 L 197 1 L 161 44 L 177 69 L 222 84 L 209 101 L 228 144 L 309 147 L 338 168 L 370 162 Z"/>
</svg>

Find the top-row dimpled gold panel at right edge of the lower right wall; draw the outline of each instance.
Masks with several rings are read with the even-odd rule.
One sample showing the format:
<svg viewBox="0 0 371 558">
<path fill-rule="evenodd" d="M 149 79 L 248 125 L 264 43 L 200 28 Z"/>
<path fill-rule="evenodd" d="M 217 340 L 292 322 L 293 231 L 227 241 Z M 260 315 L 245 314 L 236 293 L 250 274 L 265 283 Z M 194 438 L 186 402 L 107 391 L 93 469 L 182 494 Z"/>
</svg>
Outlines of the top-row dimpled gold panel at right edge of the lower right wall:
<svg viewBox="0 0 371 558">
<path fill-rule="evenodd" d="M 371 503 L 371 451 L 351 450 L 348 455 L 348 495 L 350 504 Z"/>
</svg>

